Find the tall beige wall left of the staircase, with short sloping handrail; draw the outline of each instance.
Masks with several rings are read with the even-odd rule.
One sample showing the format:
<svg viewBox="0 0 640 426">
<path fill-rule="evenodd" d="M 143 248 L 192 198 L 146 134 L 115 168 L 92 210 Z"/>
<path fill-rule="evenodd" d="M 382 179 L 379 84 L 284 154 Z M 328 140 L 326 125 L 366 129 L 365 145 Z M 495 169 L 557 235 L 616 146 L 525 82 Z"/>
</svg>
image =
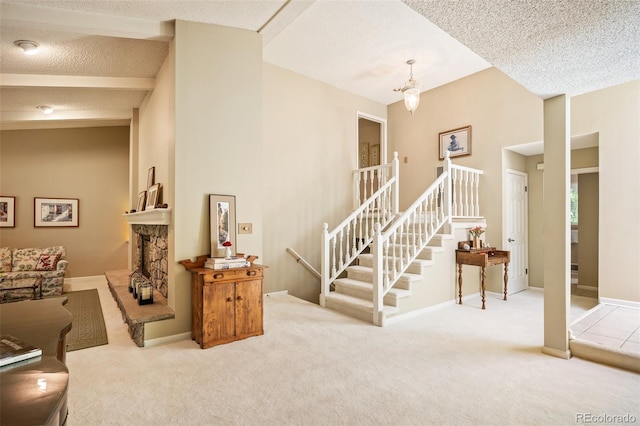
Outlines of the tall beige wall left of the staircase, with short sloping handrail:
<svg viewBox="0 0 640 426">
<path fill-rule="evenodd" d="M 264 263 L 268 292 L 318 303 L 320 281 L 286 252 L 320 270 L 322 224 L 351 212 L 357 168 L 356 112 L 386 118 L 386 106 L 263 64 Z"/>
</svg>

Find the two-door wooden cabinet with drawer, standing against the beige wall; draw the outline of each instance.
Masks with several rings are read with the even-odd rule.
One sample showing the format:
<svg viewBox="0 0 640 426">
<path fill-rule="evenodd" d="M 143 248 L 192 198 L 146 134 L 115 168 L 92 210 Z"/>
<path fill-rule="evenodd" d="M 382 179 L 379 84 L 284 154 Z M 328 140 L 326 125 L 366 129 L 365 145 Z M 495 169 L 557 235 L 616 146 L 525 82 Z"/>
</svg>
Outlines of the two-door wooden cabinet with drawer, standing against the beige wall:
<svg viewBox="0 0 640 426">
<path fill-rule="evenodd" d="M 191 272 L 191 338 L 202 349 L 264 334 L 264 265 L 214 270 L 206 256 L 180 263 Z"/>
</svg>

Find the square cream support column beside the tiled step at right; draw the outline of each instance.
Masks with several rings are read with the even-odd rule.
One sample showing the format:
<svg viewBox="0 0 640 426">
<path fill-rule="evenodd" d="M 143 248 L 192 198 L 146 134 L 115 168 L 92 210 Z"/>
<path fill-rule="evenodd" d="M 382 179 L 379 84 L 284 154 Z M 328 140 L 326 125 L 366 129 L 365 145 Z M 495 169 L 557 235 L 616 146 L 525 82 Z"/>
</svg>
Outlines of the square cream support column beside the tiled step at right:
<svg viewBox="0 0 640 426">
<path fill-rule="evenodd" d="M 544 347 L 568 359 L 571 303 L 570 105 L 566 95 L 544 101 Z"/>
</svg>

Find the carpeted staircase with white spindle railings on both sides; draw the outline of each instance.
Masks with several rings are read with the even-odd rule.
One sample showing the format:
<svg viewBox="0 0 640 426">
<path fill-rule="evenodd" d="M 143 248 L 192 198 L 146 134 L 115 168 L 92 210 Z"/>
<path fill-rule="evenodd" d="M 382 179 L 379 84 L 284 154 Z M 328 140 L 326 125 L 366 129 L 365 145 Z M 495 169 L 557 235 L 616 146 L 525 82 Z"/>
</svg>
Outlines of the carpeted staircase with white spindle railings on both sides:
<svg viewBox="0 0 640 426">
<path fill-rule="evenodd" d="M 447 157 L 438 179 L 399 213 L 397 161 L 396 153 L 380 170 L 356 171 L 354 180 L 369 183 L 364 190 L 354 184 L 358 207 L 333 231 L 324 225 L 321 306 L 379 326 L 425 307 L 425 281 L 437 279 L 429 277 L 432 266 L 454 269 L 450 256 L 438 256 L 453 252 L 454 220 L 484 223 L 478 214 L 482 171 Z"/>
</svg>

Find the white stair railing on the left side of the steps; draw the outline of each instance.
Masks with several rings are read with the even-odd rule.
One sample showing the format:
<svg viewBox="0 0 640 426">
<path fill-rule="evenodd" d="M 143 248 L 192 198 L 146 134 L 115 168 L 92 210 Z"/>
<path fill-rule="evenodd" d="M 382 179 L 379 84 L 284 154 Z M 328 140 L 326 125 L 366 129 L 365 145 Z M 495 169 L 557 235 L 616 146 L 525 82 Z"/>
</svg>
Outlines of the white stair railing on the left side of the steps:
<svg viewBox="0 0 640 426">
<path fill-rule="evenodd" d="M 385 182 L 367 200 L 361 202 L 345 220 L 329 232 L 329 225 L 323 225 L 321 250 L 320 305 L 325 305 L 325 295 L 330 286 L 344 270 L 358 257 L 373 240 L 376 224 L 384 227 L 398 214 L 398 153 L 393 155 L 390 165 L 368 167 L 359 176 L 385 176 Z M 390 170 L 387 173 L 384 170 Z M 360 172 L 360 171 L 358 171 Z M 358 190 L 359 191 L 359 190 Z"/>
</svg>

